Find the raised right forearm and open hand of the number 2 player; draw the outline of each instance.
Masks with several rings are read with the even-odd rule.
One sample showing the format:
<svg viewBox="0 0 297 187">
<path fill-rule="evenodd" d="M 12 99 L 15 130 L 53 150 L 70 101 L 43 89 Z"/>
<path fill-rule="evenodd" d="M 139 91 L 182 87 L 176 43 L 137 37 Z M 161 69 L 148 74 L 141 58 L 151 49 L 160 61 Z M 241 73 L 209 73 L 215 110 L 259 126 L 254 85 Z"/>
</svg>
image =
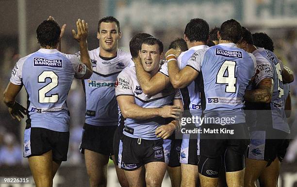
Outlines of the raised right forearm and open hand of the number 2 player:
<svg viewBox="0 0 297 187">
<path fill-rule="evenodd" d="M 88 53 L 88 46 L 87 46 L 87 36 L 88 36 L 88 23 L 85 23 L 84 20 L 78 19 L 76 22 L 77 26 L 77 34 L 75 30 L 72 30 L 73 38 L 79 42 L 80 46 L 80 54 L 81 54 L 81 62 L 86 65 L 86 73 L 80 79 L 87 79 L 90 78 L 93 69 L 90 60 L 90 56 Z"/>
</svg>

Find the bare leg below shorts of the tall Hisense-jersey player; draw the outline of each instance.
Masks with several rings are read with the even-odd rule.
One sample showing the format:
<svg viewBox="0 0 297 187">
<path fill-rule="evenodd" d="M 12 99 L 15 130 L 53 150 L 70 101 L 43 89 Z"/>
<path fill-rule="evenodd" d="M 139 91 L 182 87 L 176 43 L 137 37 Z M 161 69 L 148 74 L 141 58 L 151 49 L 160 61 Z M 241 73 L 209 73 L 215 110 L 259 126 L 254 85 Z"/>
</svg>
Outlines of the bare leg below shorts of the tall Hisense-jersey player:
<svg viewBox="0 0 297 187">
<path fill-rule="evenodd" d="M 85 149 L 84 158 L 90 186 L 106 187 L 109 156 Z"/>
</svg>

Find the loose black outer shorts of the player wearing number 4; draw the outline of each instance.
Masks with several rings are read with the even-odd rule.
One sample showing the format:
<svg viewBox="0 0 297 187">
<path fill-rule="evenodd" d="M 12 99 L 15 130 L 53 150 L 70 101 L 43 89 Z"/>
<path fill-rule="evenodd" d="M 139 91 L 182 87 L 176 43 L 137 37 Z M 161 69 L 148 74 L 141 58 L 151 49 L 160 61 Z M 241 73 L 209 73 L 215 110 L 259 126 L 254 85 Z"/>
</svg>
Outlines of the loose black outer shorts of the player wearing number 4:
<svg viewBox="0 0 297 187">
<path fill-rule="evenodd" d="M 249 136 L 245 123 L 231 125 L 202 124 L 201 128 L 200 155 L 216 158 L 225 153 L 227 148 L 239 155 L 246 154 Z M 218 129 L 218 133 L 205 133 L 207 129 Z"/>
</svg>

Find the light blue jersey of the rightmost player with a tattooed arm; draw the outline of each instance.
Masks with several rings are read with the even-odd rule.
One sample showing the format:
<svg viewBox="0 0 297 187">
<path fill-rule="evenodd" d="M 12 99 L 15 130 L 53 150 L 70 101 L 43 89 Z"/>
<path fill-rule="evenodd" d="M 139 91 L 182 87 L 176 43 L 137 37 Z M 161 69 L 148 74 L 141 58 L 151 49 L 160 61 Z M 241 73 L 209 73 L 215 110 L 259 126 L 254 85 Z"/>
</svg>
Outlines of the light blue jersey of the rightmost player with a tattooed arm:
<svg viewBox="0 0 297 187">
<path fill-rule="evenodd" d="M 264 48 L 256 49 L 253 55 L 255 55 L 257 60 L 256 85 L 264 78 L 273 79 L 273 93 L 270 102 L 273 128 L 289 133 L 290 128 L 287 124 L 284 110 L 285 97 L 281 77 L 283 70 L 282 62 L 273 52 Z"/>
</svg>

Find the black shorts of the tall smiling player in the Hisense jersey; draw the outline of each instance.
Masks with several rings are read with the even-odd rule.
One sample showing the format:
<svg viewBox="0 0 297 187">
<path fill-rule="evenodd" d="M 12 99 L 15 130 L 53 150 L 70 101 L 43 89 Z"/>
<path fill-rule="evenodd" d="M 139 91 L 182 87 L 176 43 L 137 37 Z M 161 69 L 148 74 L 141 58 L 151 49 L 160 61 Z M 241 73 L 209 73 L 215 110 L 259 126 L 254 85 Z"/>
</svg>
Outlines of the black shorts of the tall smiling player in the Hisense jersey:
<svg viewBox="0 0 297 187">
<path fill-rule="evenodd" d="M 84 153 L 84 149 L 88 149 L 102 155 L 114 155 L 113 139 L 116 127 L 84 124 L 81 152 Z"/>
</svg>

